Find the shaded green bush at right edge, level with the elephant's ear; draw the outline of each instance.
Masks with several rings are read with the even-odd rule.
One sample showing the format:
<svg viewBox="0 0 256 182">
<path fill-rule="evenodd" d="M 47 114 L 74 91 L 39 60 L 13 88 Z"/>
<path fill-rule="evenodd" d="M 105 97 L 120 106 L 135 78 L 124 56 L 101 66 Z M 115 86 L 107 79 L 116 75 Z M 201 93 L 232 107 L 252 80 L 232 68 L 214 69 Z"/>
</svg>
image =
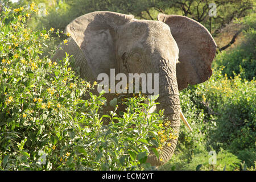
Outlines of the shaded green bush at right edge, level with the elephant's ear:
<svg viewBox="0 0 256 182">
<path fill-rule="evenodd" d="M 231 51 L 218 53 L 214 60 L 214 66 L 221 69 L 223 75 L 234 77 L 238 74 L 242 79 L 253 80 L 256 73 L 256 14 L 243 18 L 240 23 L 245 24 L 245 41 Z"/>
</svg>

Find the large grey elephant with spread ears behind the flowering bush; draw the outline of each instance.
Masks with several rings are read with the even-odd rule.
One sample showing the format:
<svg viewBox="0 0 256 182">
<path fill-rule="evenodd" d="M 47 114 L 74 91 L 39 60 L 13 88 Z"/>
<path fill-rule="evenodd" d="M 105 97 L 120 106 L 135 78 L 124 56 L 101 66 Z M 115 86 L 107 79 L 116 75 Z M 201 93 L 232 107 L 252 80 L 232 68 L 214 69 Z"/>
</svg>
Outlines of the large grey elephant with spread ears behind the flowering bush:
<svg viewBox="0 0 256 182">
<path fill-rule="evenodd" d="M 73 55 L 75 67 L 86 81 L 110 69 L 116 73 L 158 73 L 157 110 L 164 109 L 172 129 L 179 133 L 179 91 L 188 84 L 207 81 L 217 45 L 199 22 L 181 15 L 158 14 L 158 20 L 139 20 L 133 15 L 95 11 L 76 18 L 65 29 L 71 36 L 61 44 L 53 60 Z M 177 138 L 160 152 L 152 152 L 152 166 L 167 163 L 174 154 Z M 161 159 L 161 160 L 160 160 Z"/>
</svg>

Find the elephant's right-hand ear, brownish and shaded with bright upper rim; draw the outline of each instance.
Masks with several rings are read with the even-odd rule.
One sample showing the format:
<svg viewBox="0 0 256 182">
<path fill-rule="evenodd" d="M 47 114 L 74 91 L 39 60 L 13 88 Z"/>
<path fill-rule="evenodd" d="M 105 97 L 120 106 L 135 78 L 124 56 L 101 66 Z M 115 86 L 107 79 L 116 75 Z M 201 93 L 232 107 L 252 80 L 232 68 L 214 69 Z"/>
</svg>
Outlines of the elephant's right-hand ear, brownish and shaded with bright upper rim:
<svg viewBox="0 0 256 182">
<path fill-rule="evenodd" d="M 179 47 L 176 76 L 179 90 L 204 82 L 212 75 L 212 61 L 217 45 L 210 32 L 199 22 L 186 16 L 158 14 L 168 24 Z"/>
</svg>

